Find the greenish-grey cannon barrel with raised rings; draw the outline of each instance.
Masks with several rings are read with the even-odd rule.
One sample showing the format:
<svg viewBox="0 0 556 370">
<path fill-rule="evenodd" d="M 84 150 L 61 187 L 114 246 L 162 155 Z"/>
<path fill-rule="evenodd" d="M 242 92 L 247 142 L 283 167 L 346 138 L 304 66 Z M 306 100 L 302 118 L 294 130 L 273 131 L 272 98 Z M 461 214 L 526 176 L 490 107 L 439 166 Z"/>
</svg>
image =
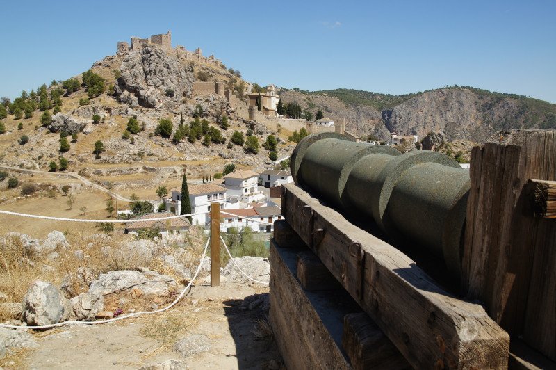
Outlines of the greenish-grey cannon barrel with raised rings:
<svg viewBox="0 0 556 370">
<path fill-rule="evenodd" d="M 297 184 L 336 209 L 371 218 L 392 239 L 429 250 L 460 275 L 470 182 L 455 159 L 313 134 L 295 147 L 291 172 Z"/>
</svg>

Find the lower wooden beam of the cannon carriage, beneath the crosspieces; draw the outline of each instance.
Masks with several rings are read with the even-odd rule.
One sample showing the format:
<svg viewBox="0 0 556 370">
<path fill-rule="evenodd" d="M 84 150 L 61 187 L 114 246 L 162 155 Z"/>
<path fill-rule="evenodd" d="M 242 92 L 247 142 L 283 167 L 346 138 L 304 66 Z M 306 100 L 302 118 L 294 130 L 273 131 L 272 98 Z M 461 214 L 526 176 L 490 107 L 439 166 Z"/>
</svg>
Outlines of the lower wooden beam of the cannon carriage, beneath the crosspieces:
<svg viewBox="0 0 556 370">
<path fill-rule="evenodd" d="M 279 252 L 280 250 L 280 252 Z M 299 251 L 297 251 L 299 252 Z M 287 320 L 275 322 L 275 325 L 288 326 L 291 337 L 286 341 L 296 341 L 300 346 L 284 346 L 281 355 L 286 366 L 291 369 L 350 369 L 347 358 L 343 355 L 341 348 L 334 340 L 334 332 L 331 327 L 336 328 L 336 337 L 341 337 L 341 323 L 343 314 L 327 316 L 323 319 L 320 314 L 334 314 L 338 304 L 343 302 L 334 299 L 333 292 L 311 293 L 304 292 L 300 283 L 295 278 L 295 266 L 297 253 L 292 248 L 278 248 L 275 243 L 270 243 L 270 268 L 272 269 L 270 279 L 270 302 L 279 306 L 282 316 Z M 288 266 L 288 264 L 290 266 Z M 309 296 L 307 296 L 307 294 Z M 310 299 L 309 297 L 312 297 Z M 320 309 L 314 307 L 318 301 Z M 349 309 L 357 307 L 352 303 Z M 338 328 L 339 326 L 339 328 Z M 286 332 L 284 332 L 285 334 Z M 295 337 L 295 339 L 294 339 Z M 284 339 L 280 340 L 283 343 Z M 297 367 L 296 357 L 308 357 L 309 367 Z"/>
</svg>

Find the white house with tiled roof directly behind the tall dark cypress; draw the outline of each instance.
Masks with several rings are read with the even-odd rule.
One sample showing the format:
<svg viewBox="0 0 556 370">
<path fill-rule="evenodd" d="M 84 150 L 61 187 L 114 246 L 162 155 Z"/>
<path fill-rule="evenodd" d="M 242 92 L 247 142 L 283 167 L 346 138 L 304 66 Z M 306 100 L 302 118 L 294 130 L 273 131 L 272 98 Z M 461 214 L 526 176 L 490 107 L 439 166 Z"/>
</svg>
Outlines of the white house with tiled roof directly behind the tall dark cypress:
<svg viewBox="0 0 556 370">
<path fill-rule="evenodd" d="M 173 188 L 172 198 L 166 200 L 166 210 L 173 214 L 181 214 L 181 187 Z M 220 209 L 226 206 L 226 188 L 217 184 L 190 184 L 188 185 L 191 212 L 205 212 L 206 214 L 192 216 L 193 225 L 204 225 L 211 211 L 211 203 L 220 203 Z"/>
</svg>

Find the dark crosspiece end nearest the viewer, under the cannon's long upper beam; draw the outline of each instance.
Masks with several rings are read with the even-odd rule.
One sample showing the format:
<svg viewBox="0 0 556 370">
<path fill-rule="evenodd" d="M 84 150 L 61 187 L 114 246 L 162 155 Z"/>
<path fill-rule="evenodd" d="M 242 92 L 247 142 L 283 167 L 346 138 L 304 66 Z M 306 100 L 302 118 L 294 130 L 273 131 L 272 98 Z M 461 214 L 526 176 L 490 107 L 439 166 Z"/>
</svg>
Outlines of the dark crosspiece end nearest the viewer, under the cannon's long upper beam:
<svg viewBox="0 0 556 370">
<path fill-rule="evenodd" d="M 355 370 L 412 369 L 368 314 L 347 314 L 343 319 L 342 346 Z"/>
</svg>

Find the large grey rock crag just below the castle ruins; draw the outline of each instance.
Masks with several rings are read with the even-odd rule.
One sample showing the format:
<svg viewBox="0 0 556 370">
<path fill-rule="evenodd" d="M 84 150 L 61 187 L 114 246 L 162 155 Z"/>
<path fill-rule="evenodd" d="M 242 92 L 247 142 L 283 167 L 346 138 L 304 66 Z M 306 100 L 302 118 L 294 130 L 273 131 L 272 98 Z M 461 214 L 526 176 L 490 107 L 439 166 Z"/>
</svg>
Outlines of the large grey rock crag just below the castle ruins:
<svg viewBox="0 0 556 370">
<path fill-rule="evenodd" d="M 124 57 L 115 95 L 132 107 L 175 108 L 193 89 L 193 67 L 163 49 L 147 46 Z"/>
</svg>

